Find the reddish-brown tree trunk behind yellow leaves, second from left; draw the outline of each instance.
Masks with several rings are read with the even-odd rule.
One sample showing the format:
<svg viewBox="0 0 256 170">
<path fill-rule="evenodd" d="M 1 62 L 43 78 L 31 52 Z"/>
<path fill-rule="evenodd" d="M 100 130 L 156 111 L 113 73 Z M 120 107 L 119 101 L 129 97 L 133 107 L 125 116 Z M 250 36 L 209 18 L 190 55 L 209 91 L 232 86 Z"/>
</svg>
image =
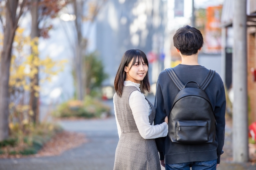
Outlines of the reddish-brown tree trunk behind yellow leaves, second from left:
<svg viewBox="0 0 256 170">
<path fill-rule="evenodd" d="M 39 37 L 39 28 L 38 28 L 38 2 L 39 0 L 32 0 L 32 6 L 31 6 L 31 39 L 34 39 L 35 37 Z M 35 58 L 39 57 L 38 54 L 35 51 L 32 51 L 31 48 L 31 54 L 34 56 L 32 59 L 32 62 Z M 39 72 L 39 68 L 37 67 L 37 70 Z M 32 85 L 39 85 L 39 76 L 37 74 L 30 80 L 32 82 Z M 32 115 L 32 120 L 34 123 L 37 123 L 39 121 L 39 96 L 35 96 L 36 91 L 32 88 L 30 92 L 30 99 L 29 99 L 29 105 L 32 111 L 34 112 L 34 115 Z"/>
</svg>

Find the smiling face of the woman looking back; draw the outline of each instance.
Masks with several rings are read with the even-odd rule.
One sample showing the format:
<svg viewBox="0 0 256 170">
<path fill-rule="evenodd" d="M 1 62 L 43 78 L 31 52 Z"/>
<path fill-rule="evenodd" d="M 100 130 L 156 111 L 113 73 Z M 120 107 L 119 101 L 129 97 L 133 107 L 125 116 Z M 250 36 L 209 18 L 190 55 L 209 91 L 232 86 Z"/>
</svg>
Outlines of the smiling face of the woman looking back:
<svg viewBox="0 0 256 170">
<path fill-rule="evenodd" d="M 140 61 L 140 64 L 138 64 L 138 57 L 134 65 L 132 65 L 132 61 L 130 61 L 128 67 L 124 67 L 124 71 L 126 72 L 126 81 L 130 80 L 135 83 L 140 83 L 148 72 L 148 66 L 143 59 Z"/>
</svg>

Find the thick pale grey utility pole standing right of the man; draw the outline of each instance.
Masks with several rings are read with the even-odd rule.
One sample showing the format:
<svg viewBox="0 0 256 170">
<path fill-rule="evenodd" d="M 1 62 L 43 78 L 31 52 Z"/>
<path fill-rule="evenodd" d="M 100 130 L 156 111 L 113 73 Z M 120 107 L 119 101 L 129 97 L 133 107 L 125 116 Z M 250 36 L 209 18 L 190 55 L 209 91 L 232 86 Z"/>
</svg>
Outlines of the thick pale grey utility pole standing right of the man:
<svg viewBox="0 0 256 170">
<path fill-rule="evenodd" d="M 246 48 L 246 0 L 234 0 L 232 63 L 233 161 L 248 162 L 248 95 Z"/>
</svg>

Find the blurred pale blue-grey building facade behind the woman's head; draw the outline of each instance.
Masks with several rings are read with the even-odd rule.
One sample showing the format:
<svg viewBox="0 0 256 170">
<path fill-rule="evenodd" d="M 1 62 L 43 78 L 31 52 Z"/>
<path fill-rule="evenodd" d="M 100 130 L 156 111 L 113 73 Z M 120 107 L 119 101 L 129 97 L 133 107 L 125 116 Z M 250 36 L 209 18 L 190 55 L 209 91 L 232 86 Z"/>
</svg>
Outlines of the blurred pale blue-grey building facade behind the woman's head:
<svg viewBox="0 0 256 170">
<path fill-rule="evenodd" d="M 104 86 L 113 86 L 122 55 L 128 49 L 140 49 L 152 61 L 149 66 L 150 83 L 153 75 L 163 69 L 164 33 L 167 1 L 108 0 L 96 21 L 96 50 L 109 78 Z M 154 54 L 154 55 L 150 55 Z M 156 59 L 150 57 L 156 56 Z"/>
</svg>

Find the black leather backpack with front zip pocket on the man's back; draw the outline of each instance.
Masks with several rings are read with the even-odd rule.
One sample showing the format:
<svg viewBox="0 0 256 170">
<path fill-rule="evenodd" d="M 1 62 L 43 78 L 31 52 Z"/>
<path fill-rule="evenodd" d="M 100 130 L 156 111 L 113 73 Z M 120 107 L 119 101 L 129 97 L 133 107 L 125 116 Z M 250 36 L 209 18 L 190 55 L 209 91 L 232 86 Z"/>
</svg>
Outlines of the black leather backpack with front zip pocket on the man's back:
<svg viewBox="0 0 256 170">
<path fill-rule="evenodd" d="M 215 71 L 209 70 L 198 88 L 187 88 L 179 80 L 173 68 L 167 68 L 169 76 L 180 89 L 168 117 L 168 137 L 173 143 L 203 144 L 215 140 L 216 117 L 207 94 L 204 92 Z"/>
</svg>

